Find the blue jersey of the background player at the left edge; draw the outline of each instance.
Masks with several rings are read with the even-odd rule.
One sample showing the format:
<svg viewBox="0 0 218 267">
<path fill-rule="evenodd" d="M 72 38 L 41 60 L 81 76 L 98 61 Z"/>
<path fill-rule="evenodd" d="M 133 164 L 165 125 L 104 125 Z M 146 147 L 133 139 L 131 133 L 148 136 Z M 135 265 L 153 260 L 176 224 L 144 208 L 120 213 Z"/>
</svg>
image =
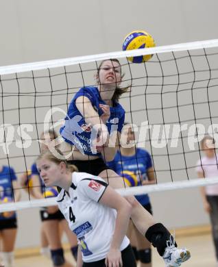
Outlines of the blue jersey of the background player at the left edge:
<svg viewBox="0 0 218 267">
<path fill-rule="evenodd" d="M 14 201 L 14 194 L 12 189 L 12 181 L 16 181 L 16 175 L 14 173 L 14 169 L 10 168 L 8 166 L 3 166 L 1 172 L 0 172 L 0 196 L 1 199 L 4 197 L 8 197 L 8 199 L 11 199 Z M 14 213 L 13 216 L 10 218 L 5 218 L 0 214 L 0 220 L 8 220 L 15 218 L 16 214 Z"/>
</svg>

